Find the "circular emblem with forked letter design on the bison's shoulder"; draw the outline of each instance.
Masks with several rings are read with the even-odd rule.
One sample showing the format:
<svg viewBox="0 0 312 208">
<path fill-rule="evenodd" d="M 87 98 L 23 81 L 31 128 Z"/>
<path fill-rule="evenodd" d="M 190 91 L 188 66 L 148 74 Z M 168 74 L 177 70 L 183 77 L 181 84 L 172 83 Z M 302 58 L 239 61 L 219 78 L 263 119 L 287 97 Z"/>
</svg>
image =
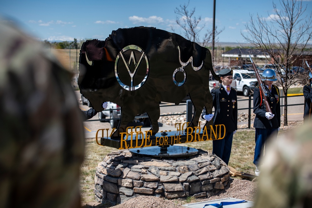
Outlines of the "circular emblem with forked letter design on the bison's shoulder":
<svg viewBox="0 0 312 208">
<path fill-rule="evenodd" d="M 126 90 L 141 88 L 149 74 L 149 60 L 145 51 L 129 45 L 119 51 L 115 61 L 115 75 L 119 84 Z"/>
</svg>

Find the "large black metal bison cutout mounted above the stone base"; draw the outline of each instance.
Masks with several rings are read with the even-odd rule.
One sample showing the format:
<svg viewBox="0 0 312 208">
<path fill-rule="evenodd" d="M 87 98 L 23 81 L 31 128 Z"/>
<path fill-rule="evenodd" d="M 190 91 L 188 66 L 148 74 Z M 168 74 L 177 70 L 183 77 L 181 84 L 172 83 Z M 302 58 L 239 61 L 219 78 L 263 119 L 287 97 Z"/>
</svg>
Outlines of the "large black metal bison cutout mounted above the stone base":
<svg viewBox="0 0 312 208">
<path fill-rule="evenodd" d="M 157 133 L 159 103 L 179 104 L 188 94 L 194 106 L 188 127 L 197 126 L 203 107 L 212 113 L 210 71 L 219 80 L 207 48 L 154 27 L 119 28 L 105 41 L 85 41 L 79 71 L 80 93 L 96 111 L 103 110 L 103 101 L 121 108 L 112 139 L 120 138 L 129 121 L 145 112 L 152 134 Z"/>
</svg>

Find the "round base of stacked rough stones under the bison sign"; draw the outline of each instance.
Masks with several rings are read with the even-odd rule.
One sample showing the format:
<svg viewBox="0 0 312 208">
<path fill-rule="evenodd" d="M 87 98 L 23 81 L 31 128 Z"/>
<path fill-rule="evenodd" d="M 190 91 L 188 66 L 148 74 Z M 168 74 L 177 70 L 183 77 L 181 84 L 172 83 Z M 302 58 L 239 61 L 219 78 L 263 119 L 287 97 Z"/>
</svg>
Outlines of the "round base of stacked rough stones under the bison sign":
<svg viewBox="0 0 312 208">
<path fill-rule="evenodd" d="M 214 154 L 198 152 L 183 158 L 111 152 L 96 167 L 95 199 L 115 205 L 141 195 L 167 199 L 216 195 L 230 178 L 227 165 Z"/>
</svg>

